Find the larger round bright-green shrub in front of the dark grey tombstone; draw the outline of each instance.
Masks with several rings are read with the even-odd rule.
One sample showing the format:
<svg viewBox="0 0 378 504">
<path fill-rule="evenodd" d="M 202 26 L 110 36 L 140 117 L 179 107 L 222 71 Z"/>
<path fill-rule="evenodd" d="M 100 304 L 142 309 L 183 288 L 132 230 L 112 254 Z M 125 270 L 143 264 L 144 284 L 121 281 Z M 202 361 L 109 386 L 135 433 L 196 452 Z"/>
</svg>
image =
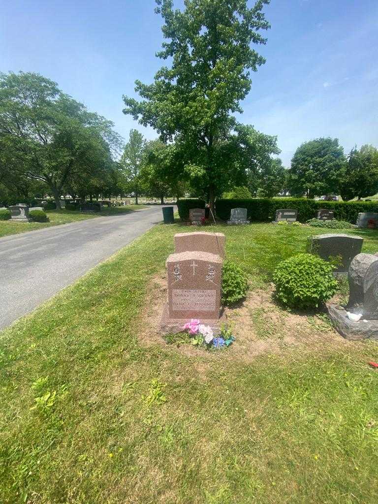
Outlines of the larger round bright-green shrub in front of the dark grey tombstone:
<svg viewBox="0 0 378 504">
<path fill-rule="evenodd" d="M 312 254 L 298 254 L 280 263 L 274 274 L 277 298 L 292 308 L 312 308 L 330 299 L 338 283 L 333 266 Z"/>
</svg>

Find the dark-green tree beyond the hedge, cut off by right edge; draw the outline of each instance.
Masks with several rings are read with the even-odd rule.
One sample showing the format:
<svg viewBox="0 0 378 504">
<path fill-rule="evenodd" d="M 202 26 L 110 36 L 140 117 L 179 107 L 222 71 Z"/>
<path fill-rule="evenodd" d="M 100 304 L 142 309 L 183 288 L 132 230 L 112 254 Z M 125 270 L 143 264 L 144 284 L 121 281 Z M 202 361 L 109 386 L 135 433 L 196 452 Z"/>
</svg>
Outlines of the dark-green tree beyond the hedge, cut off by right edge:
<svg viewBox="0 0 378 504">
<path fill-rule="evenodd" d="M 378 150 L 372 145 L 352 149 L 340 184 L 343 200 L 366 198 L 378 193 Z"/>
</svg>

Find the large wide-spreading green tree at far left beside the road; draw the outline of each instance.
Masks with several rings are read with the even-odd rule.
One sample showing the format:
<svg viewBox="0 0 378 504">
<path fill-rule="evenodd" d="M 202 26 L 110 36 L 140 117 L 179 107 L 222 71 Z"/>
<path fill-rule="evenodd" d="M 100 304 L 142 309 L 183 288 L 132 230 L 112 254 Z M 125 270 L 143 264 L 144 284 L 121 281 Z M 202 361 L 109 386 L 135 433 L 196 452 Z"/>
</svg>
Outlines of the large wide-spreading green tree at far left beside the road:
<svg viewBox="0 0 378 504">
<path fill-rule="evenodd" d="M 70 180 L 109 163 L 120 144 L 113 123 L 35 73 L 0 74 L 0 162 L 59 196 Z"/>
</svg>

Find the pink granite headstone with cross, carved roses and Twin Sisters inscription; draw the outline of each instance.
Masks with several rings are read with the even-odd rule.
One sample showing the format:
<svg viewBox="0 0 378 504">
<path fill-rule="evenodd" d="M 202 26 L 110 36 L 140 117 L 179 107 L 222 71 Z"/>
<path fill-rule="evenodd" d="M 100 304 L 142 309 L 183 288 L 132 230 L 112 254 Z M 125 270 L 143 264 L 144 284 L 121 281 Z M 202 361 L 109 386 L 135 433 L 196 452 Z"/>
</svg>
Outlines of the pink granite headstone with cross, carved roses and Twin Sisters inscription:
<svg viewBox="0 0 378 504">
<path fill-rule="evenodd" d="M 182 331 L 191 319 L 219 328 L 222 317 L 220 256 L 206 252 L 186 251 L 171 254 L 166 261 L 168 299 L 161 330 Z"/>
</svg>

